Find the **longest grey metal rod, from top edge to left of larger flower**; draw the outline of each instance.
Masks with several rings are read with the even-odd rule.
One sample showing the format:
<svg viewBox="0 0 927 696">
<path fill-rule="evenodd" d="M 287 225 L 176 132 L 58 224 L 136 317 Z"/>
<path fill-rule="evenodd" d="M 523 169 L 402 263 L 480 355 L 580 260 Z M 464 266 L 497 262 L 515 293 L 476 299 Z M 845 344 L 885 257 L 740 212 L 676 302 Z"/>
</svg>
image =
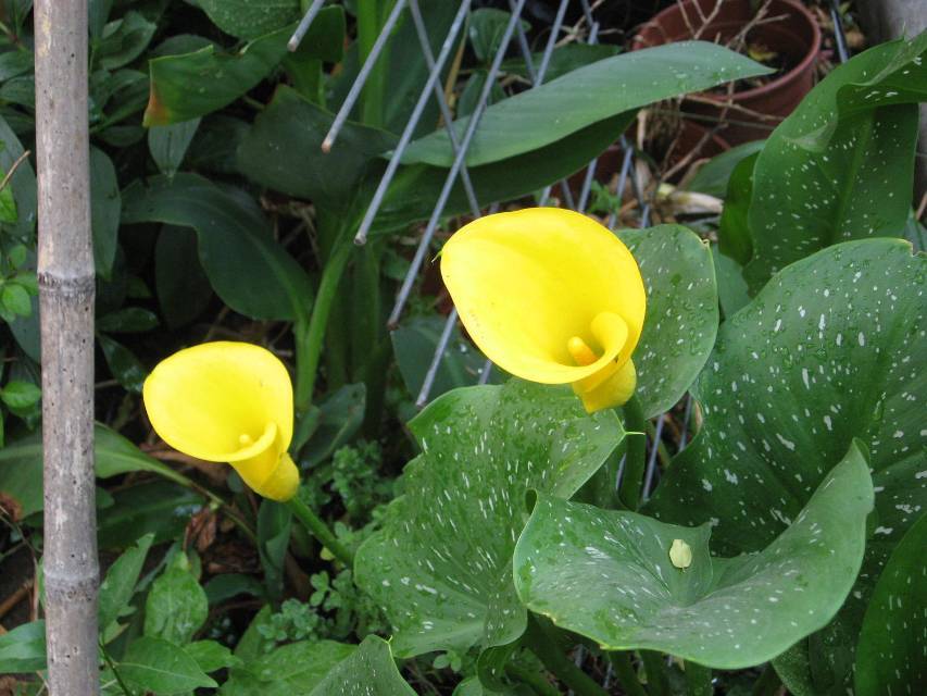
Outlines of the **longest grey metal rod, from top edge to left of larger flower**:
<svg viewBox="0 0 927 696">
<path fill-rule="evenodd" d="M 486 83 L 483 86 L 483 91 L 479 95 L 479 99 L 474 108 L 473 113 L 469 116 L 469 121 L 467 122 L 467 127 L 464 133 L 463 140 L 461 141 L 461 150 L 458 156 L 454 158 L 453 163 L 451 164 L 451 170 L 448 172 L 448 176 L 444 179 L 444 186 L 441 188 L 441 192 L 438 196 L 438 202 L 435 204 L 435 209 L 431 212 L 431 217 L 428 220 L 428 224 L 425 227 L 425 232 L 422 235 L 422 241 L 418 243 L 418 248 L 415 250 L 415 257 L 412 259 L 412 264 L 409 266 L 409 272 L 405 274 L 405 278 L 402 281 L 402 287 L 399 289 L 399 295 L 396 298 L 396 304 L 392 308 L 392 312 L 389 315 L 388 325 L 396 326 L 399 321 L 400 315 L 402 314 L 402 310 L 405 307 L 405 302 L 409 300 L 409 294 L 412 291 L 412 285 L 415 282 L 415 277 L 418 274 L 418 271 L 422 268 L 422 263 L 425 260 L 425 254 L 428 251 L 428 245 L 431 243 L 431 237 L 435 235 L 435 231 L 438 227 L 438 223 L 440 222 L 441 214 L 444 212 L 444 206 L 448 203 L 448 197 L 451 195 L 451 189 L 456 182 L 458 174 L 460 173 L 461 166 L 464 163 L 464 158 L 466 157 L 467 151 L 469 150 L 469 144 L 473 141 L 473 136 L 476 133 L 477 126 L 479 126 L 479 121 L 483 117 L 483 113 L 486 110 L 486 102 L 489 99 L 489 94 L 492 90 L 492 85 L 496 82 L 496 76 L 499 74 L 499 66 L 502 64 L 502 59 L 505 55 L 505 51 L 509 48 L 509 42 L 512 40 L 512 34 L 515 30 L 515 24 L 518 22 L 518 17 L 522 14 L 522 9 L 525 5 L 525 0 L 517 0 L 517 5 L 515 11 L 512 12 L 512 16 L 509 20 L 509 24 L 505 25 L 505 30 L 502 35 L 502 41 L 499 45 L 499 50 L 496 52 L 494 58 L 492 59 L 492 64 L 489 66 L 489 71 L 486 76 Z"/>
</svg>

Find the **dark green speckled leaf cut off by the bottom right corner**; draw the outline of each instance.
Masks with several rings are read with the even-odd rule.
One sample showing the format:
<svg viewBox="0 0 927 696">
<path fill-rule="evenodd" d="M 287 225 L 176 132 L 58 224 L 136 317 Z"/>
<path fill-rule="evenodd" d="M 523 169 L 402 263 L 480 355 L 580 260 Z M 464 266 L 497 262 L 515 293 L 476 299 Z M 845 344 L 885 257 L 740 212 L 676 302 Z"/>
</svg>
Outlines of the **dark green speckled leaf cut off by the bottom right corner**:
<svg viewBox="0 0 927 696">
<path fill-rule="evenodd" d="M 927 514 L 909 530 L 886 563 L 856 645 L 856 693 L 927 691 Z"/>
</svg>

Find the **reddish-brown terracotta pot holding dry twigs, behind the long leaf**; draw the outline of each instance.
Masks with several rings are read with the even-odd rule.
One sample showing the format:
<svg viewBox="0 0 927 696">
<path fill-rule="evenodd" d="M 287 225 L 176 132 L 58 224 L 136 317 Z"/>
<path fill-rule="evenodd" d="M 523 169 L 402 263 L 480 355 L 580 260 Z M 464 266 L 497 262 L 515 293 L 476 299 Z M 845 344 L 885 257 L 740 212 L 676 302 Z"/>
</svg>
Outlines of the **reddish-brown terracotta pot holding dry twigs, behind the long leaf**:
<svg viewBox="0 0 927 696">
<path fill-rule="evenodd" d="M 714 20 L 701 34 L 706 41 L 726 42 L 753 16 L 750 0 L 685 0 L 674 4 L 640 27 L 631 45 L 631 50 L 653 46 L 685 41 L 692 38 L 689 26 L 698 27 L 700 15 L 696 2 L 707 16 L 721 1 L 721 9 Z M 684 14 L 685 13 L 685 14 Z M 778 22 L 761 24 L 750 32 L 748 40 L 762 44 L 771 50 L 788 58 L 793 67 L 761 87 L 734 92 L 730 101 L 750 112 L 764 114 L 767 119 L 735 109 L 728 109 L 726 119 L 738 123 L 728 123 L 724 137 L 732 145 L 759 140 L 769 135 L 772 126 L 778 123 L 799 104 L 814 86 L 814 67 L 820 50 L 820 28 L 814 16 L 797 0 L 773 0 L 767 17 L 785 15 Z M 687 23 L 688 17 L 688 23 Z M 727 101 L 727 96 L 705 94 L 704 97 L 717 102 Z M 687 111 L 718 117 L 722 107 L 687 102 Z"/>
</svg>

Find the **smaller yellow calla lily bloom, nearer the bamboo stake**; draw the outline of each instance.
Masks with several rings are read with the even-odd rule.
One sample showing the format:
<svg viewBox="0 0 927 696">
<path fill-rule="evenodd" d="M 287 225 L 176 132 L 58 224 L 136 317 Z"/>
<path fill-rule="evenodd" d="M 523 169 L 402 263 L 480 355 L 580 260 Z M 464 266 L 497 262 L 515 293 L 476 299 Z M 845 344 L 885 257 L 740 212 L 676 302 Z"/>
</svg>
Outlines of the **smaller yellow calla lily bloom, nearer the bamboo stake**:
<svg viewBox="0 0 927 696">
<path fill-rule="evenodd" d="M 296 495 L 299 472 L 287 453 L 292 384 L 271 351 L 231 341 L 180 350 L 154 368 L 142 397 L 151 425 L 171 447 L 228 462 L 265 498 Z"/>
</svg>

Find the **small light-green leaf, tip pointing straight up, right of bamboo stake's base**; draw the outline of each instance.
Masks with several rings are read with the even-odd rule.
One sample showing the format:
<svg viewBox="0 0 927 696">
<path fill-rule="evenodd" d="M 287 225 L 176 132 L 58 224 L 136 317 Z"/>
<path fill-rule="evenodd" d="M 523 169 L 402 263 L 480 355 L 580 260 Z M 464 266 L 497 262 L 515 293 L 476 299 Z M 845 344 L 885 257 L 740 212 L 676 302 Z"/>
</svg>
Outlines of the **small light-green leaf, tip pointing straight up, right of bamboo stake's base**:
<svg viewBox="0 0 927 696">
<path fill-rule="evenodd" d="M 190 572 L 183 551 L 175 554 L 151 584 L 145 601 L 145 635 L 186 645 L 209 614 L 206 593 Z"/>
</svg>

